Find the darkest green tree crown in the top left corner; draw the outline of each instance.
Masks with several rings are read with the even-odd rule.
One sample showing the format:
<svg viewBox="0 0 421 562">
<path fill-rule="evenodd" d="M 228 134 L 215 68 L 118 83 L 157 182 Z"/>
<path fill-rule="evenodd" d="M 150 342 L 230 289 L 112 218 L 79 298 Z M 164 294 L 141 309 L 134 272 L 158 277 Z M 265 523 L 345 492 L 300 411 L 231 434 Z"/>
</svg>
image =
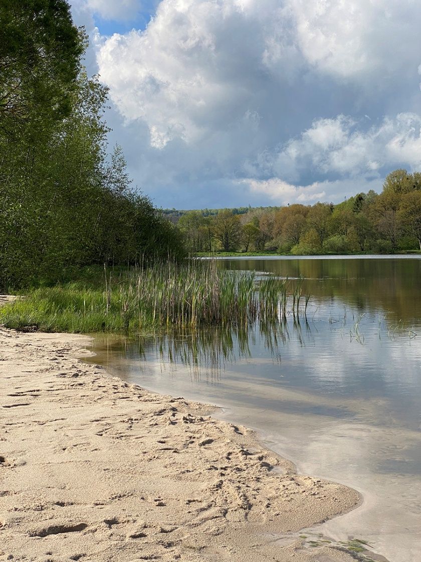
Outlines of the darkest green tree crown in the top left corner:
<svg viewBox="0 0 421 562">
<path fill-rule="evenodd" d="M 0 127 L 15 137 L 70 115 L 86 38 L 65 0 L 2 0 Z M 27 129 L 28 132 L 28 129 Z"/>
</svg>

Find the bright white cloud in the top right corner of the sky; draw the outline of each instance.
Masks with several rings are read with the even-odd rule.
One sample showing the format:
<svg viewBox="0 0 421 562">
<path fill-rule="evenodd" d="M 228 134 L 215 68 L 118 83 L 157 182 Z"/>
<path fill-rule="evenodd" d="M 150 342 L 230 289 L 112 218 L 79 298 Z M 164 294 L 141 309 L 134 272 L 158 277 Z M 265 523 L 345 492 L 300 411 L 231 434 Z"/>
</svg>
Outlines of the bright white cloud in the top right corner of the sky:
<svg viewBox="0 0 421 562">
<path fill-rule="evenodd" d="M 421 19 L 419 2 L 287 0 L 287 4 L 295 15 L 301 51 L 323 71 L 349 78 L 373 71 L 391 74 L 402 65 L 413 72 L 419 64 L 421 35 L 415 31 Z"/>
</svg>

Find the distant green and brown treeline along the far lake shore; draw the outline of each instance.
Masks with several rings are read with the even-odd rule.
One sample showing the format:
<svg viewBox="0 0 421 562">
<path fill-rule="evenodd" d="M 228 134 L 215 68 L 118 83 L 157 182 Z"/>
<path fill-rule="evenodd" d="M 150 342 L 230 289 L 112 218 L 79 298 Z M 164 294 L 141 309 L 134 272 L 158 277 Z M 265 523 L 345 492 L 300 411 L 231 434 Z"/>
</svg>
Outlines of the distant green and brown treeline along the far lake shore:
<svg viewBox="0 0 421 562">
<path fill-rule="evenodd" d="M 421 173 L 395 170 L 386 177 L 382 193 L 359 193 L 338 205 L 182 211 L 177 225 L 192 252 L 421 250 Z"/>
</svg>

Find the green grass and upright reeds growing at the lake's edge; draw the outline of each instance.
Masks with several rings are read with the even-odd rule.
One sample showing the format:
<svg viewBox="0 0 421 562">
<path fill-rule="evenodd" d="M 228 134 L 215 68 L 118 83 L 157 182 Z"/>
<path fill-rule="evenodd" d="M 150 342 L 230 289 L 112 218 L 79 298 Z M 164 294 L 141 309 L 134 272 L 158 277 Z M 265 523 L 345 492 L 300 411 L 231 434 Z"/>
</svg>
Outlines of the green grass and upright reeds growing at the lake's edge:
<svg viewBox="0 0 421 562">
<path fill-rule="evenodd" d="M 102 277 L 102 279 L 101 279 Z M 148 268 L 81 275 L 74 283 L 32 289 L 0 309 L 7 328 L 45 332 L 136 332 L 168 326 L 246 325 L 295 315 L 302 282 L 226 271 L 216 260 L 158 262 Z M 292 291 L 292 299 L 291 297 Z"/>
</svg>

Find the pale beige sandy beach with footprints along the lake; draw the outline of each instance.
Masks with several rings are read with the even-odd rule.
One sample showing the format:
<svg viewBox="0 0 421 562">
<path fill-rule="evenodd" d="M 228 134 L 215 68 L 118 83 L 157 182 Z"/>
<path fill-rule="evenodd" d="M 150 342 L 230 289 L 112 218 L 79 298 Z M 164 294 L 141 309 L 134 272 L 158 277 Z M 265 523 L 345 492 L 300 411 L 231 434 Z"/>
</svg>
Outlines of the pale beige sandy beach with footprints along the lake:
<svg viewBox="0 0 421 562">
<path fill-rule="evenodd" d="M 77 359 L 89 343 L 0 328 L 0 560 L 354 560 L 288 533 L 356 491 L 297 474 L 211 406 Z"/>
</svg>

